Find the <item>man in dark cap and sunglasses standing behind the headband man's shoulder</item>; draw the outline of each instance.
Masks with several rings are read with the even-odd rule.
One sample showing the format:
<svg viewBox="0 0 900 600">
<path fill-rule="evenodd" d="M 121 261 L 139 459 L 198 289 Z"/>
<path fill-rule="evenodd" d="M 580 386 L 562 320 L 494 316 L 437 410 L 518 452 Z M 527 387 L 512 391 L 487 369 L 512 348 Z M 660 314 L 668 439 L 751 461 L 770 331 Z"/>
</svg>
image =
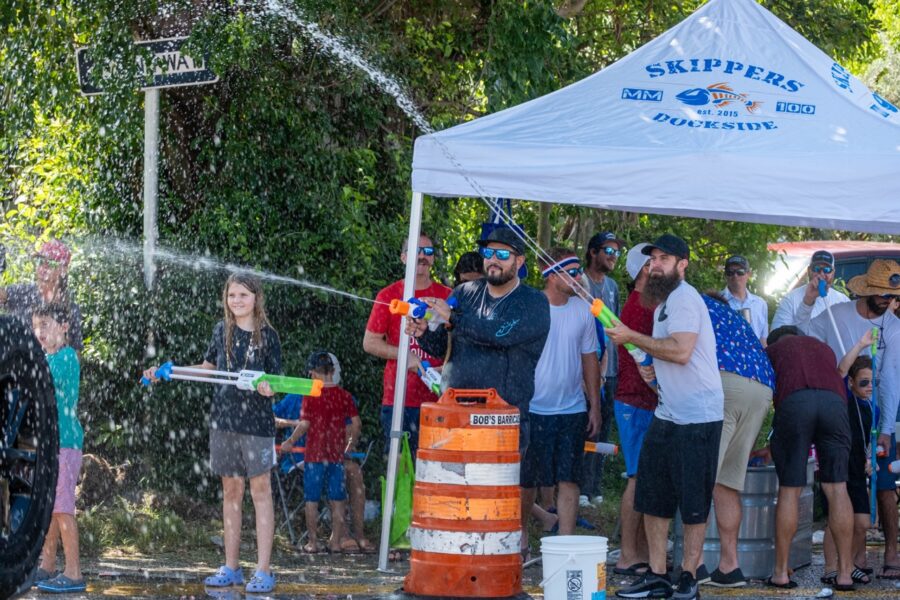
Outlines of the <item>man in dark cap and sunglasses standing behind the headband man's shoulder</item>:
<svg viewBox="0 0 900 600">
<path fill-rule="evenodd" d="M 619 316 L 619 286 L 611 277 L 619 257 L 625 248 L 625 241 L 612 231 L 603 231 L 588 241 L 584 257 L 584 283 L 591 296 L 603 300 L 603 303 Z M 600 329 L 598 334 L 603 335 Z M 598 351 L 602 349 L 598 348 Z M 603 357 L 598 356 L 603 363 Z M 591 441 L 605 442 L 609 440 L 609 430 L 614 420 L 614 401 L 619 372 L 618 349 L 615 344 L 606 345 L 606 368 L 600 373 L 600 387 L 603 390 L 600 399 L 600 431 L 591 436 Z M 603 501 L 603 465 L 605 457 L 589 454 L 585 459 L 584 478 L 581 481 L 581 504 L 589 502 L 599 504 Z"/>
</svg>

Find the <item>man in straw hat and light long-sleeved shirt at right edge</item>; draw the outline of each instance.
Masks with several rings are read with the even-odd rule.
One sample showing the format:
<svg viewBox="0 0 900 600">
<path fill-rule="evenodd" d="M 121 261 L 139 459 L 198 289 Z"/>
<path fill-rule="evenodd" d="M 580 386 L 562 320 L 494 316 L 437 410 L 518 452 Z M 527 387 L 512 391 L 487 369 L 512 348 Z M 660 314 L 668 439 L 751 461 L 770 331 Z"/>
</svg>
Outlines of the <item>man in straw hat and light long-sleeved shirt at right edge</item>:
<svg viewBox="0 0 900 600">
<path fill-rule="evenodd" d="M 855 302 L 834 306 L 834 325 L 822 314 L 809 324 L 810 335 L 822 340 L 843 355 L 867 331 L 879 330 L 875 356 L 875 391 L 881 417 L 878 422 L 878 442 L 887 456 L 878 459 L 877 499 L 884 525 L 883 577 L 900 579 L 900 556 L 897 553 L 897 503 L 895 489 L 897 475 L 888 471 L 888 464 L 896 460 L 897 441 L 895 423 L 900 405 L 900 319 L 894 315 L 900 302 L 900 264 L 893 260 L 872 261 L 864 275 L 857 275 L 847 283 L 857 296 Z M 840 336 L 840 338 L 838 338 Z M 840 341 L 838 341 L 840 339 Z"/>
</svg>

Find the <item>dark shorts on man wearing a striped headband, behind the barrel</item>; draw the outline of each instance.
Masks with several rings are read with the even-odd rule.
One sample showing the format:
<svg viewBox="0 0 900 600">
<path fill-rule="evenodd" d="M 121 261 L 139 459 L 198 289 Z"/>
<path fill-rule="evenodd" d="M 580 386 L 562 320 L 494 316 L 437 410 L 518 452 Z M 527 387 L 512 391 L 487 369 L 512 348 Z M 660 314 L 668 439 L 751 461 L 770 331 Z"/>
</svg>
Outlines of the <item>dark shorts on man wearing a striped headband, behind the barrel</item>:
<svg viewBox="0 0 900 600">
<path fill-rule="evenodd" d="M 581 481 L 587 413 L 528 416 L 531 431 L 522 463 L 522 487 Z"/>
</svg>

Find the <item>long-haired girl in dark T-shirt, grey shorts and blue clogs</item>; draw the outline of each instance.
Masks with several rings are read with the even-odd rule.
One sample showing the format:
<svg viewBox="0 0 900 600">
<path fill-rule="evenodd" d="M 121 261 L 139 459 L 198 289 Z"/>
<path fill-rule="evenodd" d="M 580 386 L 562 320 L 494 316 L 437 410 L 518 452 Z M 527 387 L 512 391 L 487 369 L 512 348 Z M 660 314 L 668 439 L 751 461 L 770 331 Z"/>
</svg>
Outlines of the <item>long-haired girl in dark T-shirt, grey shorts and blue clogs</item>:
<svg viewBox="0 0 900 600">
<path fill-rule="evenodd" d="M 203 363 L 195 365 L 218 371 L 265 371 L 281 373 L 281 342 L 269 326 L 263 292 L 257 278 L 235 273 L 225 282 L 225 319 L 213 329 Z M 156 369 L 144 375 L 155 380 Z M 241 506 L 244 479 L 250 480 L 250 495 L 256 511 L 256 573 L 247 583 L 251 593 L 271 592 L 275 576 L 269 568 L 275 514 L 269 470 L 275 464 L 275 418 L 272 388 L 259 385 L 256 392 L 222 385 L 216 390 L 210 415 L 210 466 L 222 478 L 225 564 L 207 577 L 210 587 L 243 585 L 238 564 L 241 543 Z"/>
</svg>

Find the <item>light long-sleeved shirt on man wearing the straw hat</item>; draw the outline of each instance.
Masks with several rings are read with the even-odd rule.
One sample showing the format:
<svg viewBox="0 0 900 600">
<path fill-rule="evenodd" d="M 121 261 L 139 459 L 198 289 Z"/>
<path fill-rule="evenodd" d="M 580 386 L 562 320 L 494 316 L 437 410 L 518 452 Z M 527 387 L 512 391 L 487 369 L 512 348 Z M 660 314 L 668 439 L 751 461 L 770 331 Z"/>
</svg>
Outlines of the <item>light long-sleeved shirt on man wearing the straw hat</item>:
<svg viewBox="0 0 900 600">
<path fill-rule="evenodd" d="M 837 336 L 844 342 L 844 350 L 849 352 L 866 331 L 878 327 L 881 339 L 875 355 L 876 389 L 875 399 L 881 409 L 878 430 L 890 435 L 895 428 L 897 406 L 900 404 L 900 319 L 886 312 L 880 317 L 866 319 L 856 310 L 856 302 L 845 302 L 831 307 L 834 325 L 827 313 L 822 313 L 809 322 L 809 334 L 819 338 L 834 351 L 838 363 L 843 358 Z M 835 333 L 837 326 L 838 333 Z M 871 356 L 867 349 L 860 355 Z"/>
</svg>

